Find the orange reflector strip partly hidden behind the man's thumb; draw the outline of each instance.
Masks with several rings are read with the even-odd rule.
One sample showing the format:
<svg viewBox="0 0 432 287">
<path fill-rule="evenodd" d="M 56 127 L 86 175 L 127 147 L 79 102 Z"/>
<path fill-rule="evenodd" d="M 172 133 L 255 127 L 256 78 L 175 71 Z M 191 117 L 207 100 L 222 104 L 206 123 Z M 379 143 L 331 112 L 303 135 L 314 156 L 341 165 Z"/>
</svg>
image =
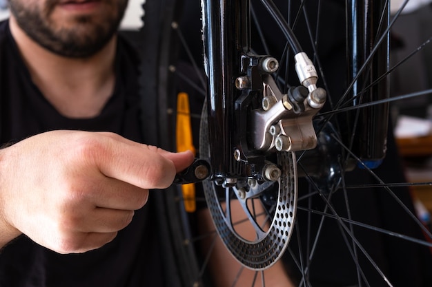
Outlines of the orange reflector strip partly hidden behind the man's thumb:
<svg viewBox="0 0 432 287">
<path fill-rule="evenodd" d="M 176 126 L 176 145 L 177 151 L 190 150 L 195 156 L 195 147 L 193 146 L 192 126 L 190 125 L 190 108 L 189 96 L 186 93 L 179 93 L 177 95 L 177 126 Z M 184 208 L 187 212 L 194 212 L 196 210 L 195 200 L 195 184 L 181 185 L 183 192 Z"/>
</svg>

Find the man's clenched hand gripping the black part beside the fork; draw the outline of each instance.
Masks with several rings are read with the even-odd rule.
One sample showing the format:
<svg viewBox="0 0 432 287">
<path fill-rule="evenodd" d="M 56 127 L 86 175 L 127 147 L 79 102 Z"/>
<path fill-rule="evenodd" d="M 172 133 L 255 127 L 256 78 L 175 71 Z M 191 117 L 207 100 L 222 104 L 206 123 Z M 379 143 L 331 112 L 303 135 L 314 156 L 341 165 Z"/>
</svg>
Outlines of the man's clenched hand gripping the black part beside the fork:
<svg viewBox="0 0 432 287">
<path fill-rule="evenodd" d="M 110 242 L 193 154 L 110 133 L 50 131 L 0 150 L 0 247 L 21 233 L 58 253 Z"/>
</svg>

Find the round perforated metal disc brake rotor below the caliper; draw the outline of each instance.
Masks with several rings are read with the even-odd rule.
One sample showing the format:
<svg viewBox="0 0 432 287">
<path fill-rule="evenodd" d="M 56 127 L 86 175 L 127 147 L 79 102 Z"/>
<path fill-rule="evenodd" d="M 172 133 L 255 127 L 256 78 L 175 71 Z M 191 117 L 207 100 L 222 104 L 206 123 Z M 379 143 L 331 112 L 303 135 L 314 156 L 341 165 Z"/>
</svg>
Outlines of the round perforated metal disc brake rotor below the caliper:
<svg viewBox="0 0 432 287">
<path fill-rule="evenodd" d="M 293 164 L 294 158 L 294 153 L 278 153 L 277 163 L 282 171 L 282 176 L 273 184 L 264 183 L 266 184 L 264 189 L 277 189 L 277 202 L 266 209 L 266 217 L 268 218 L 266 222 L 269 224 L 266 231 L 257 222 L 251 208 L 247 206 L 247 196 L 245 200 L 234 199 L 240 201 L 245 219 L 247 218 L 254 227 L 255 240 L 245 239 L 235 231 L 236 222 L 232 222 L 230 218 L 230 196 L 226 196 L 226 200 L 222 201 L 226 204 L 225 208 L 222 208 L 222 202 L 219 200 L 221 193 L 224 194 L 224 189 L 211 181 L 204 182 L 208 209 L 219 236 L 228 251 L 241 264 L 253 270 L 264 270 L 272 266 L 284 254 L 291 238 L 297 207 L 295 182 L 297 177 L 295 176 L 295 164 Z M 238 194 L 236 188 L 226 188 L 226 193 L 229 192 Z"/>
</svg>

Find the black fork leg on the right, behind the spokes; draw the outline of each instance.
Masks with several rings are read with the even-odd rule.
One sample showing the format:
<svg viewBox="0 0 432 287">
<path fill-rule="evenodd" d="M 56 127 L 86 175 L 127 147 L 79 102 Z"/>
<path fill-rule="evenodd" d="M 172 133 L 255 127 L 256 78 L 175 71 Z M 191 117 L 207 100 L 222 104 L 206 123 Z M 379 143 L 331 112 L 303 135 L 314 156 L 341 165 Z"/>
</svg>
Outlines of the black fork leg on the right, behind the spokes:
<svg viewBox="0 0 432 287">
<path fill-rule="evenodd" d="M 348 61 L 350 61 L 348 82 L 357 77 L 353 85 L 353 105 L 373 102 L 389 97 L 389 80 L 383 78 L 380 83 L 365 87 L 386 73 L 389 69 L 389 36 L 380 43 L 368 68 L 362 70 L 366 59 L 370 56 L 375 43 L 380 39 L 389 25 L 389 5 L 386 0 L 348 0 L 347 36 Z M 357 74 L 361 72 L 361 76 Z M 367 167 L 373 168 L 382 162 L 386 153 L 386 137 L 389 122 L 389 105 L 375 105 L 353 112 L 349 121 L 357 123 L 353 150 L 359 154 Z M 356 122 L 357 119 L 357 122 Z M 354 131 L 351 131 L 354 132 Z M 351 142 L 351 135 L 347 135 Z"/>
</svg>

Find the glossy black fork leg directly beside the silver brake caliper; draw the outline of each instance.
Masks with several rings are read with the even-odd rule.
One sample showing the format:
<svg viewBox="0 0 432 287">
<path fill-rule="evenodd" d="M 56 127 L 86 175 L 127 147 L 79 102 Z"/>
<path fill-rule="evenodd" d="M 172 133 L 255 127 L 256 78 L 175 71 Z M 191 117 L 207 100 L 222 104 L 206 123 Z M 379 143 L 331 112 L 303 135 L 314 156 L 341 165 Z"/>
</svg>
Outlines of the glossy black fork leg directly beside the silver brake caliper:
<svg viewBox="0 0 432 287">
<path fill-rule="evenodd" d="M 249 47 L 248 5 L 248 0 L 202 1 L 210 164 L 213 179 L 227 185 L 235 184 L 236 176 L 233 103 L 240 54 Z"/>
</svg>

